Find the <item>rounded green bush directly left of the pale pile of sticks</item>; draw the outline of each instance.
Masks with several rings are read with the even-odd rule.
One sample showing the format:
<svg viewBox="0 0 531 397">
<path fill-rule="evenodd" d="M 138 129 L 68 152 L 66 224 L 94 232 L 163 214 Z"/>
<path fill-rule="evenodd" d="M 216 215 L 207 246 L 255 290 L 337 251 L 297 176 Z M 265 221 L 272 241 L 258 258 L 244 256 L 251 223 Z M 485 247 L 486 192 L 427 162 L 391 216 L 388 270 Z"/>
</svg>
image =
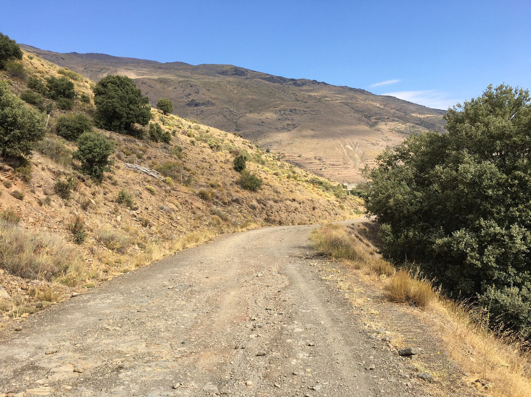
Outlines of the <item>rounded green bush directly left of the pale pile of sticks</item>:
<svg viewBox="0 0 531 397">
<path fill-rule="evenodd" d="M 85 132 L 79 137 L 78 150 L 72 153 L 75 160 L 81 161 L 81 171 L 101 182 L 104 171 L 110 171 L 113 161 L 114 142 L 99 133 Z"/>
</svg>

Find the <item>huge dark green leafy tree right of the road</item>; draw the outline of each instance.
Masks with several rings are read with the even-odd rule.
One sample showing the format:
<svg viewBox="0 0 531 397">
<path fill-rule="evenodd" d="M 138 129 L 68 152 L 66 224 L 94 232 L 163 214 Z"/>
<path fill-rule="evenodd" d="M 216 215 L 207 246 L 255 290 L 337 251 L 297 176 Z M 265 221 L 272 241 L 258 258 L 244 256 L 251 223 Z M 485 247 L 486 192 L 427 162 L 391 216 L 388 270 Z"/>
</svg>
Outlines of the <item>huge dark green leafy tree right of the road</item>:
<svg viewBox="0 0 531 397">
<path fill-rule="evenodd" d="M 415 262 L 451 294 L 477 297 L 495 323 L 531 336 L 531 105 L 489 86 L 449 109 L 448 133 L 409 136 L 366 170 L 383 253 Z"/>
</svg>

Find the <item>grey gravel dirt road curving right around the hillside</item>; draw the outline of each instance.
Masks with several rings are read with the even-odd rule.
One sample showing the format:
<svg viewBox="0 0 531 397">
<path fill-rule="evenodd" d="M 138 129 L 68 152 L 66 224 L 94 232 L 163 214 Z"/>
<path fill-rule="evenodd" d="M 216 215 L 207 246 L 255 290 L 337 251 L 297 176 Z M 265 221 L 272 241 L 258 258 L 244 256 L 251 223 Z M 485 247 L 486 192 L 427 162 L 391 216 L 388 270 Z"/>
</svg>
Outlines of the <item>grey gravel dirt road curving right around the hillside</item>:
<svg viewBox="0 0 531 397">
<path fill-rule="evenodd" d="M 0 394 L 424 395 L 321 279 L 312 229 L 221 236 L 30 317 Z"/>
</svg>

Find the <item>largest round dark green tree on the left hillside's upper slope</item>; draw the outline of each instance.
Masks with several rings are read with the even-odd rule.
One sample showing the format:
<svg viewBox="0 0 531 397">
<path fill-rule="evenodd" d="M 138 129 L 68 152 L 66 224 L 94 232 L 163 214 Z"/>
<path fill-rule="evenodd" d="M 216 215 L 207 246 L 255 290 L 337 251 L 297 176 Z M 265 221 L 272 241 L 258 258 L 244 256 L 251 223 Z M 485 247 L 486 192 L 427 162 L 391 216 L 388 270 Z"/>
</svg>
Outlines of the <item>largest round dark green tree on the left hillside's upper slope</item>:
<svg viewBox="0 0 531 397">
<path fill-rule="evenodd" d="M 109 75 L 94 88 L 97 124 L 110 131 L 137 136 L 133 125 L 147 125 L 151 118 L 148 97 L 126 76 Z"/>
</svg>

